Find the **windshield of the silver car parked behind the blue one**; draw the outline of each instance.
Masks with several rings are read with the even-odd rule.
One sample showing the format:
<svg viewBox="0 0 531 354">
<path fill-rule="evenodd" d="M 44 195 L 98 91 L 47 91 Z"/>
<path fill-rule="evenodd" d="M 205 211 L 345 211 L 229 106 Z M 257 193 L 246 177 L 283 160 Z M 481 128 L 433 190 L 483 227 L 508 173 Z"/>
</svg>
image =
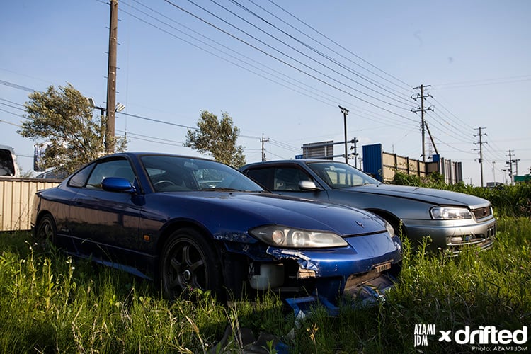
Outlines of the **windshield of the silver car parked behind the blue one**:
<svg viewBox="0 0 531 354">
<path fill-rule="evenodd" d="M 348 188 L 356 185 L 381 184 L 375 178 L 341 162 L 324 161 L 308 164 L 317 176 L 321 177 L 331 188 Z"/>
</svg>

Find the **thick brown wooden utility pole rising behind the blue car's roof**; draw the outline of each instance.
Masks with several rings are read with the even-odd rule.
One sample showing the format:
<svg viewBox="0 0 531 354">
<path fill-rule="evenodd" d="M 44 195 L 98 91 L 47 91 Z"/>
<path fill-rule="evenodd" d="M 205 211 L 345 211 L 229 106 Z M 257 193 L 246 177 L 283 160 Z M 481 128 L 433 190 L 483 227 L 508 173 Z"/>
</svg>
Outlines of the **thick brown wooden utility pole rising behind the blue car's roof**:
<svg viewBox="0 0 531 354">
<path fill-rule="evenodd" d="M 114 152 L 116 105 L 116 46 L 118 45 L 118 0 L 110 0 L 109 60 L 107 68 L 107 129 L 105 153 Z"/>
</svg>

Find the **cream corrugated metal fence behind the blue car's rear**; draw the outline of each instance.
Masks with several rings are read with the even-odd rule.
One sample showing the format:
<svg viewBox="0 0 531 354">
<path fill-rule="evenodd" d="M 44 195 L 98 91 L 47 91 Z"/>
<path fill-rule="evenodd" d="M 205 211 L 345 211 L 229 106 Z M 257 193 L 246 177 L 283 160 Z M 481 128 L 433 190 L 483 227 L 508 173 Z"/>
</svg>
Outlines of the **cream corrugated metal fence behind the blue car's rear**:
<svg viewBox="0 0 531 354">
<path fill-rule="evenodd" d="M 33 195 L 59 180 L 0 177 L 0 231 L 29 230 Z"/>
</svg>

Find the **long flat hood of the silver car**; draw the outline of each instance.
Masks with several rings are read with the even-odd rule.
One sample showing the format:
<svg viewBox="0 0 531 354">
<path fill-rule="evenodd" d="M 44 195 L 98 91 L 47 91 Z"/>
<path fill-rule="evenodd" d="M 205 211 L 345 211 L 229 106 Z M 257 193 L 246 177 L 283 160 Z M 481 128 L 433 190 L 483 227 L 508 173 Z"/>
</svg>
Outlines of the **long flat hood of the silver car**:
<svg viewBox="0 0 531 354">
<path fill-rule="evenodd" d="M 471 209 L 490 205 L 489 200 L 476 197 L 475 195 L 452 192 L 450 190 L 410 187 L 406 185 L 367 184 L 343 188 L 341 190 L 357 193 L 392 195 L 396 198 L 418 200 L 434 205 L 466 205 Z"/>
</svg>

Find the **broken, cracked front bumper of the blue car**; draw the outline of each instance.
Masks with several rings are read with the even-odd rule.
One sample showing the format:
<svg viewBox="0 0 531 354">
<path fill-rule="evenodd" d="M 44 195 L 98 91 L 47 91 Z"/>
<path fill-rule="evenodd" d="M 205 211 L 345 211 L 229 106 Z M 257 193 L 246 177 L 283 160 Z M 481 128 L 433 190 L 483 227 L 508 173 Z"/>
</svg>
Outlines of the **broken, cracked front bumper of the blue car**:
<svg viewBox="0 0 531 354">
<path fill-rule="evenodd" d="M 375 298 L 392 286 L 401 263 L 401 242 L 387 232 L 345 238 L 346 247 L 280 249 L 261 243 L 228 243 L 227 249 L 250 260 L 249 283 L 255 290 L 283 297 Z"/>
</svg>

